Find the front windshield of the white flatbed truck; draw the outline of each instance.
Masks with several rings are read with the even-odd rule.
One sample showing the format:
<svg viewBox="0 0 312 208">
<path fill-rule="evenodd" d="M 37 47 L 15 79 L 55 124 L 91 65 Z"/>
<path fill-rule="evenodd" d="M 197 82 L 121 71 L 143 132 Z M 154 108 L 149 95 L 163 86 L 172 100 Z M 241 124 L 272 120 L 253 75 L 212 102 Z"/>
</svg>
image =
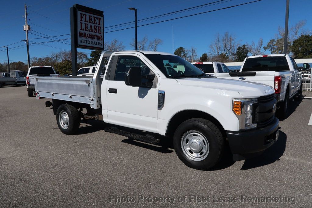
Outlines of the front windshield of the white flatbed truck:
<svg viewBox="0 0 312 208">
<path fill-rule="evenodd" d="M 144 54 L 167 78 L 211 77 L 178 56 Z"/>
</svg>

